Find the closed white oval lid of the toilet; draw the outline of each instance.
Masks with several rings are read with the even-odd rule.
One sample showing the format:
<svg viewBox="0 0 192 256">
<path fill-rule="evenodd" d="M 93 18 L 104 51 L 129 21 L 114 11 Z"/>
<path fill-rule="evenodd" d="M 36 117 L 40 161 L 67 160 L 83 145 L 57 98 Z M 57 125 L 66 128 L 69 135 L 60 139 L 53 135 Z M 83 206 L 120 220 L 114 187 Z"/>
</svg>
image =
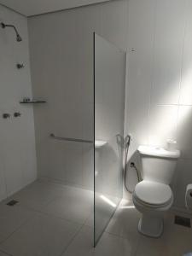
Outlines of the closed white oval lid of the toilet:
<svg viewBox="0 0 192 256">
<path fill-rule="evenodd" d="M 143 181 L 137 184 L 135 195 L 144 203 L 160 206 L 172 200 L 172 189 L 163 183 Z"/>
</svg>

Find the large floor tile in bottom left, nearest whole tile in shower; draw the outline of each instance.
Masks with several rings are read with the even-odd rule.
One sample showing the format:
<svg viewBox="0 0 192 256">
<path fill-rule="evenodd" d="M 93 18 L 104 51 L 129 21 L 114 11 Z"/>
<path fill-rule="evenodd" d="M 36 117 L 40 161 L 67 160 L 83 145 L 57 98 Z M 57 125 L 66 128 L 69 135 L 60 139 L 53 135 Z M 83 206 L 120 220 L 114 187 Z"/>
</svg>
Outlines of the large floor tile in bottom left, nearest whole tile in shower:
<svg viewBox="0 0 192 256">
<path fill-rule="evenodd" d="M 79 228 L 79 224 L 38 215 L 4 241 L 0 249 L 14 256 L 60 256 Z"/>
</svg>

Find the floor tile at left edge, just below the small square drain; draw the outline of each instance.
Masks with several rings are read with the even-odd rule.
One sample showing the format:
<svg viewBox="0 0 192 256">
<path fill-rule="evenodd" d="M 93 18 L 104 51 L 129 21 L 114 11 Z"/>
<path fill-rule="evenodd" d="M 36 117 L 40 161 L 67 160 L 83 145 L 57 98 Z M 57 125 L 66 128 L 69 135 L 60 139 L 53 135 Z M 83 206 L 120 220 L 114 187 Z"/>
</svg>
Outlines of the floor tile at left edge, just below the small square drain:
<svg viewBox="0 0 192 256">
<path fill-rule="evenodd" d="M 34 212 L 23 207 L 9 207 L 4 202 L 0 204 L 0 242 L 9 237 L 20 225 L 32 218 Z"/>
</svg>

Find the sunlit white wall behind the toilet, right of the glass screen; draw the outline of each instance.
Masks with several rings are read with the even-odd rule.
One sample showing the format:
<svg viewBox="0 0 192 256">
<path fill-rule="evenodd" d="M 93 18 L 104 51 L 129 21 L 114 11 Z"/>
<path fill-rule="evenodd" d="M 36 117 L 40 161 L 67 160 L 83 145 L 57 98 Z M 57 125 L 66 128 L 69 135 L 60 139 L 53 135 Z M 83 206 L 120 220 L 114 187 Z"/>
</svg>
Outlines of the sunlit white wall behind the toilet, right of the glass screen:
<svg viewBox="0 0 192 256">
<path fill-rule="evenodd" d="M 165 146 L 166 139 L 176 139 L 182 157 L 173 183 L 175 207 L 184 210 L 185 187 L 192 183 L 192 1 L 130 0 L 128 19 L 130 156 L 139 144 Z"/>
</svg>

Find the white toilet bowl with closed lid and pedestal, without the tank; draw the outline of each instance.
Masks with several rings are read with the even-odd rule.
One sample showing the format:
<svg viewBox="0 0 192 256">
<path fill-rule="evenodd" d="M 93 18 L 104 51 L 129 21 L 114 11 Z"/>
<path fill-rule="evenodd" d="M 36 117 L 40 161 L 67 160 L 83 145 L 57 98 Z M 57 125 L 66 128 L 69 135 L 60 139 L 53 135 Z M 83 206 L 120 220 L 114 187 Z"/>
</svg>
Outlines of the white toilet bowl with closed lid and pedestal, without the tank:
<svg viewBox="0 0 192 256">
<path fill-rule="evenodd" d="M 137 211 L 142 213 L 138 231 L 145 236 L 160 237 L 164 214 L 172 207 L 172 189 L 163 183 L 143 181 L 137 184 L 132 199 Z"/>
</svg>

